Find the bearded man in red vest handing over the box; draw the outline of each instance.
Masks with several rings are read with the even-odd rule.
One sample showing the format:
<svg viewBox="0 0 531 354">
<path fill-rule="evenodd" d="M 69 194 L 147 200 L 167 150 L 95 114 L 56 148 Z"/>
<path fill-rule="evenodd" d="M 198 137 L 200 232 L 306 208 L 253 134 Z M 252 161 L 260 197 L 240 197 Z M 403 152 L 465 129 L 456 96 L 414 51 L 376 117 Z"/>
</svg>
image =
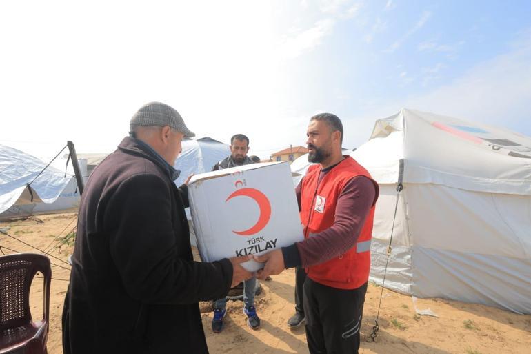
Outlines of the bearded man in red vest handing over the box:
<svg viewBox="0 0 531 354">
<path fill-rule="evenodd" d="M 259 279 L 302 266 L 306 339 L 310 353 L 358 353 L 370 270 L 378 184 L 341 152 L 343 125 L 329 113 L 308 126 L 308 161 L 317 164 L 297 186 L 304 241 L 255 256 Z"/>
</svg>

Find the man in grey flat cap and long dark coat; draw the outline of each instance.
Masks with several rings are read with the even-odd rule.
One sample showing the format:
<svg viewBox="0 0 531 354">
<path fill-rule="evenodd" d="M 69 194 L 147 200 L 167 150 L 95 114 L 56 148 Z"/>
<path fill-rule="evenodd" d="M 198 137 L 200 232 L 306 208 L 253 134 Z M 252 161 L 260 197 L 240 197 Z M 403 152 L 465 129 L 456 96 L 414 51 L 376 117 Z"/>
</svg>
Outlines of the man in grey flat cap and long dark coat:
<svg viewBox="0 0 531 354">
<path fill-rule="evenodd" d="M 153 102 L 130 136 L 90 175 L 81 197 L 63 308 L 63 352 L 208 353 L 198 302 L 218 299 L 251 273 L 241 262 L 194 262 L 173 168 L 183 137 L 172 107 Z"/>
</svg>

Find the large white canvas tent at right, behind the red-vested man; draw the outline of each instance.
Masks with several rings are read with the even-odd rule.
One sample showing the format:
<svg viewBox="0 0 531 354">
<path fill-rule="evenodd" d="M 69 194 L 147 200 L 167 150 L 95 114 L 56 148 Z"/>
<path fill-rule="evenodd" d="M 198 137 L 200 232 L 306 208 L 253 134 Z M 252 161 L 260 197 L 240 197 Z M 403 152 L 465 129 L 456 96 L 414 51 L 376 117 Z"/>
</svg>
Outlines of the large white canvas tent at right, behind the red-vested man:
<svg viewBox="0 0 531 354">
<path fill-rule="evenodd" d="M 350 155 L 380 186 L 372 281 L 383 279 L 403 160 L 385 286 L 531 313 L 529 137 L 403 109 Z"/>
</svg>

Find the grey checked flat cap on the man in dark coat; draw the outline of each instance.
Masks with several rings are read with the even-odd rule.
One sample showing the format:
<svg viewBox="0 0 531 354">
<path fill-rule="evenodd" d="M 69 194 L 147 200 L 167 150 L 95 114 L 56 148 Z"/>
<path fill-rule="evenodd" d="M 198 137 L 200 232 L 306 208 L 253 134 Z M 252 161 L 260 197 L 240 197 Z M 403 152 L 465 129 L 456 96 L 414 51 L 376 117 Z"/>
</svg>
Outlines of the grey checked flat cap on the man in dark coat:
<svg viewBox="0 0 531 354">
<path fill-rule="evenodd" d="M 169 126 L 182 132 L 185 137 L 195 137 L 184 124 L 183 117 L 167 104 L 150 102 L 143 105 L 131 118 L 131 126 Z"/>
</svg>

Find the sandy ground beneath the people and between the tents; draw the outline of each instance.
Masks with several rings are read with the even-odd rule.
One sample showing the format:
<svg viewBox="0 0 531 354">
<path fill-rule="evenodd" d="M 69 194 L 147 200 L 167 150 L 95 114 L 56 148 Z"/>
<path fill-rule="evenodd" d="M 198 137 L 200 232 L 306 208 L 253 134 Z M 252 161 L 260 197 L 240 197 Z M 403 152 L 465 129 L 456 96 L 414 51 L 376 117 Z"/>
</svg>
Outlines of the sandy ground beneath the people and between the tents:
<svg viewBox="0 0 531 354">
<path fill-rule="evenodd" d="M 0 223 L 0 228 L 8 227 L 7 232 L 16 238 L 0 234 L 0 246 L 17 252 L 38 252 L 20 241 L 40 249 L 46 248 L 55 243 L 54 239 L 62 230 L 66 228 L 60 236 L 72 229 L 75 224 L 72 220 L 76 217 L 74 213 L 41 215 L 34 219 Z M 6 248 L 2 248 L 4 253 L 12 253 Z M 50 354 L 62 353 L 61 311 L 69 270 L 59 267 L 68 268 L 59 259 L 66 260 L 71 252 L 72 246 L 63 245 L 52 253 L 57 257 L 51 258 L 52 263 L 58 266 L 52 266 Z M 256 299 L 262 322 L 259 331 L 253 331 L 246 325 L 242 302 L 228 302 L 225 329 L 214 334 L 210 329 L 212 305 L 200 304 L 210 353 L 308 353 L 303 328 L 291 331 L 286 324 L 294 311 L 294 271 L 285 271 L 272 278 L 269 282 L 262 282 L 263 291 Z M 531 315 L 517 315 L 498 308 L 444 299 L 419 299 L 418 308 L 431 308 L 439 317 L 417 316 L 411 297 L 387 290 L 383 291 L 380 331 L 376 342 L 372 342 L 370 333 L 380 293 L 380 287 L 369 286 L 360 353 L 531 353 Z M 34 279 L 31 302 L 34 317 L 41 317 L 41 279 Z"/>
</svg>

